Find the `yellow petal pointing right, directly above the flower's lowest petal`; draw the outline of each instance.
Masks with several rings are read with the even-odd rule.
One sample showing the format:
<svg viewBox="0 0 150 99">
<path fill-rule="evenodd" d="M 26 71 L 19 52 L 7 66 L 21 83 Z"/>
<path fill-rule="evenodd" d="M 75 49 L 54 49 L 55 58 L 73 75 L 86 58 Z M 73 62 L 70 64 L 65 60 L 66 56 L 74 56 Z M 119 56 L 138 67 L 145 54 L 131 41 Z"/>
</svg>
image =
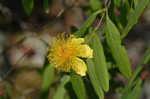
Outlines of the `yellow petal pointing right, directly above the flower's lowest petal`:
<svg viewBox="0 0 150 99">
<path fill-rule="evenodd" d="M 77 56 L 83 58 L 92 58 L 93 50 L 88 45 L 80 45 Z"/>
</svg>

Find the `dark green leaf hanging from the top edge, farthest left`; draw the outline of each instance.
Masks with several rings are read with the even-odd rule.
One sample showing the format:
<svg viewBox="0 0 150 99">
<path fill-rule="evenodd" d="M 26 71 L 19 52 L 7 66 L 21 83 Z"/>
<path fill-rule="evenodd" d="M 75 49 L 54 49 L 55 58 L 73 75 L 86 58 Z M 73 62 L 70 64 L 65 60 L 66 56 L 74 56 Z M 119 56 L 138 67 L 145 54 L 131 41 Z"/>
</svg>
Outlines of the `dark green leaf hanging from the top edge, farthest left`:
<svg viewBox="0 0 150 99">
<path fill-rule="evenodd" d="M 34 0 L 22 0 L 22 4 L 27 15 L 30 15 L 34 7 Z"/>
</svg>

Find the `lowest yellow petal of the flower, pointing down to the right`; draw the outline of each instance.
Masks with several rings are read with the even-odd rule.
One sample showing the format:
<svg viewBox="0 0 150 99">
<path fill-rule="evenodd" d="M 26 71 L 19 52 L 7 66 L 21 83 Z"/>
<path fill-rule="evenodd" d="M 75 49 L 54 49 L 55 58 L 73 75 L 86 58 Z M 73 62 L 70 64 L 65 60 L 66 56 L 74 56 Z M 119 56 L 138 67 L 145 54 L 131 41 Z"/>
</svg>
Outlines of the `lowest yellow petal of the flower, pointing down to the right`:
<svg viewBox="0 0 150 99">
<path fill-rule="evenodd" d="M 74 57 L 71 62 L 71 67 L 77 74 L 81 76 L 86 75 L 87 67 L 83 60 L 77 57 Z"/>
</svg>

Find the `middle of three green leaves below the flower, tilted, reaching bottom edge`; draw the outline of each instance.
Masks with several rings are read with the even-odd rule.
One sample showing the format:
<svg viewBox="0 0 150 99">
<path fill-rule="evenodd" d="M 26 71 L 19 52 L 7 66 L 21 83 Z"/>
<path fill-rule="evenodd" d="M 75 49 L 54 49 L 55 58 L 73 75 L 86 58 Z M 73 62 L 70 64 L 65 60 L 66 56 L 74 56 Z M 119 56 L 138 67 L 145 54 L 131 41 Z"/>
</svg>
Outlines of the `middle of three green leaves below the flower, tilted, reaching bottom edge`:
<svg viewBox="0 0 150 99">
<path fill-rule="evenodd" d="M 66 93 L 66 89 L 64 88 L 64 86 L 69 82 L 69 80 L 70 80 L 69 76 L 63 76 L 53 99 L 64 99 Z"/>
</svg>

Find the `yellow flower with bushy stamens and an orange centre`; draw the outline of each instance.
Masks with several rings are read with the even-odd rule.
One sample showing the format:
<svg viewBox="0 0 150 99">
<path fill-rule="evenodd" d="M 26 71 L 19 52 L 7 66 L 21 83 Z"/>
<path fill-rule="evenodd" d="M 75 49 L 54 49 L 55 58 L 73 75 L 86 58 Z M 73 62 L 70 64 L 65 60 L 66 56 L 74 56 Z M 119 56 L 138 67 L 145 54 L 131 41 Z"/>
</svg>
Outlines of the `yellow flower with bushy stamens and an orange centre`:
<svg viewBox="0 0 150 99">
<path fill-rule="evenodd" d="M 84 38 L 76 38 L 73 35 L 68 38 L 58 36 L 50 44 L 48 60 L 59 70 L 65 72 L 73 70 L 85 76 L 87 67 L 81 58 L 92 58 L 93 50 L 83 43 Z"/>
</svg>

